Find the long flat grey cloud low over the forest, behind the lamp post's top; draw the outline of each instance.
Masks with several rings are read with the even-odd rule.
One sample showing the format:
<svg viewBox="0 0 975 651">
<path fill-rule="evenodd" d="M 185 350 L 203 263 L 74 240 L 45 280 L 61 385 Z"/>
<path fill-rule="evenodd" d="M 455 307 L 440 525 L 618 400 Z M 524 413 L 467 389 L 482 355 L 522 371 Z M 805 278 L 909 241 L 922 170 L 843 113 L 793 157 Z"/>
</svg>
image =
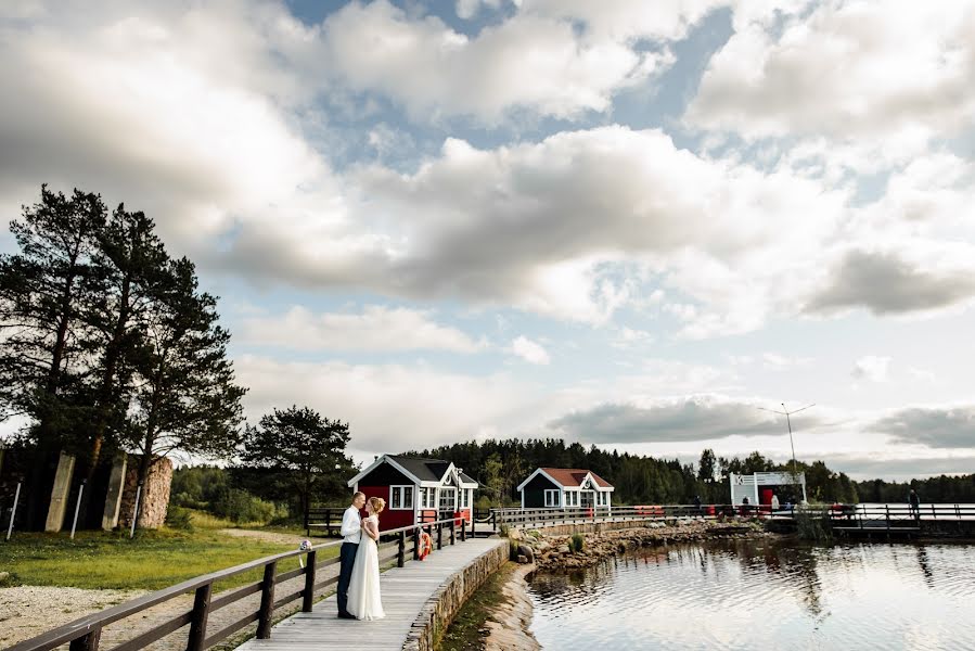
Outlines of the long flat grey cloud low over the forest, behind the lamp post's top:
<svg viewBox="0 0 975 651">
<path fill-rule="evenodd" d="M 819 418 L 806 416 L 804 426 Z M 782 433 L 781 418 L 751 403 L 718 396 L 685 396 L 645 404 L 606 403 L 549 423 L 566 436 L 592 443 L 693 442 Z"/>
</svg>

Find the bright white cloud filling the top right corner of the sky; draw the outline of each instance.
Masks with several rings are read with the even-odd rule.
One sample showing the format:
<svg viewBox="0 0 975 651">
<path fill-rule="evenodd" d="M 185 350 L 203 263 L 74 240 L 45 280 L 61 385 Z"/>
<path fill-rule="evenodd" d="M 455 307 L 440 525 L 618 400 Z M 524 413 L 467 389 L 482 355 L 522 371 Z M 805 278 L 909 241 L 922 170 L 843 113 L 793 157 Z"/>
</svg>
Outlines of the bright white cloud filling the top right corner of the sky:
<svg viewBox="0 0 975 651">
<path fill-rule="evenodd" d="M 885 0 L 749 13 L 715 54 L 687 120 L 762 137 L 919 141 L 975 115 L 971 2 Z"/>
</svg>

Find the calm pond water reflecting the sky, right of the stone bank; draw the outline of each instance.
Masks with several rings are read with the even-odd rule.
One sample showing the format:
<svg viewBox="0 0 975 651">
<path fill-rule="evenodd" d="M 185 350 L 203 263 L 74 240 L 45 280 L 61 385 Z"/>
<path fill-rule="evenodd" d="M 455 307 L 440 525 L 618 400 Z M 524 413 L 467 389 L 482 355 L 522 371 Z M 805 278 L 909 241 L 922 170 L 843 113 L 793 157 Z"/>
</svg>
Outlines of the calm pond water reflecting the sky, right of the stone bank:
<svg viewBox="0 0 975 651">
<path fill-rule="evenodd" d="M 547 651 L 975 649 L 975 546 L 731 540 L 536 575 Z"/>
</svg>

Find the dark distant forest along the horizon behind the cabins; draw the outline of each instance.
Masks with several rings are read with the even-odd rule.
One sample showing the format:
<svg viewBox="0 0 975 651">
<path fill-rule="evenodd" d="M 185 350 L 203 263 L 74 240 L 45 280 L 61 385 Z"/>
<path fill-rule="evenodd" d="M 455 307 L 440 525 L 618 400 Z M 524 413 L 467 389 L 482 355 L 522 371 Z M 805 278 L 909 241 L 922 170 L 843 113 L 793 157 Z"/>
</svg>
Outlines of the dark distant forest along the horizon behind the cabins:
<svg viewBox="0 0 975 651">
<path fill-rule="evenodd" d="M 486 488 L 485 502 L 516 503 L 516 487 L 528 473 L 539 467 L 583 468 L 616 487 L 616 503 L 690 503 L 695 495 L 706 503 L 729 500 L 728 475 L 787 471 L 788 463 L 775 463 L 755 451 L 745 458 L 717 457 L 710 449 L 701 454 L 696 464 L 682 464 L 678 459 L 606 451 L 578 443 L 566 445 L 561 438 L 488 439 L 446 445 L 407 452 L 415 457 L 449 459 Z M 883 480 L 855 482 L 822 461 L 797 461 L 797 470 L 806 473 L 806 489 L 812 502 L 877 501 L 906 502 L 914 488 L 924 502 L 975 502 L 975 474 L 939 476 L 896 483 Z"/>
</svg>

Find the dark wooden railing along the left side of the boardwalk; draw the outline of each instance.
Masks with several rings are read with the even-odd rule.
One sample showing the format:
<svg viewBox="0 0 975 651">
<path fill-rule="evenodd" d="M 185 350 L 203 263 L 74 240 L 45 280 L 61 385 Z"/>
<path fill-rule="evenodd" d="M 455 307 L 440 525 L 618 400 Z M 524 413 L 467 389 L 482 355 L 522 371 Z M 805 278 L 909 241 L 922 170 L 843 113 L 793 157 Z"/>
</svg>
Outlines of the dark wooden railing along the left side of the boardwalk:
<svg viewBox="0 0 975 651">
<path fill-rule="evenodd" d="M 408 553 L 412 556 L 412 559 L 419 559 L 421 531 L 426 531 L 436 540 L 436 549 L 441 549 L 446 529 L 449 533 L 449 544 L 453 545 L 458 537 L 456 528 L 456 521 L 450 519 L 382 532 L 384 540 L 379 545 L 380 563 L 383 564 L 396 559 L 397 566 L 402 567 L 407 561 Z M 464 527 L 461 527 L 460 538 L 461 540 L 466 539 Z M 412 542 L 412 549 L 409 551 L 408 547 L 410 546 L 408 541 Z M 338 557 L 322 561 L 318 561 L 317 557 L 323 549 L 341 545 L 341 540 L 335 540 L 317 545 L 307 551 L 287 551 L 228 570 L 197 576 L 81 617 L 49 630 L 43 635 L 14 644 L 7 651 L 50 651 L 64 643 L 69 644 L 70 651 L 97 651 L 102 629 L 108 624 L 137 615 L 154 605 L 170 601 L 188 592 L 194 592 L 192 609 L 155 625 L 151 630 L 114 647 L 111 651 L 136 651 L 137 649 L 142 649 L 187 625 L 190 626 L 187 651 L 208 649 L 253 622 L 257 622 L 257 637 L 267 639 L 271 636 L 271 624 L 277 609 L 302 599 L 302 611 L 306 613 L 311 612 L 316 591 L 338 583 Z M 278 565 L 282 561 L 303 556 L 306 557 L 304 567 L 282 573 L 278 572 Z M 264 577 L 260 580 L 223 592 L 217 597 L 214 596 L 215 583 L 261 567 L 264 569 Z M 326 570 L 329 572 L 324 572 Z M 326 574 L 328 576 L 325 576 Z M 305 577 L 304 587 L 287 595 L 275 593 L 275 586 L 299 576 Z M 257 592 L 260 592 L 260 605 L 257 610 L 245 614 L 216 633 L 207 630 L 207 621 L 210 614 Z"/>
</svg>

